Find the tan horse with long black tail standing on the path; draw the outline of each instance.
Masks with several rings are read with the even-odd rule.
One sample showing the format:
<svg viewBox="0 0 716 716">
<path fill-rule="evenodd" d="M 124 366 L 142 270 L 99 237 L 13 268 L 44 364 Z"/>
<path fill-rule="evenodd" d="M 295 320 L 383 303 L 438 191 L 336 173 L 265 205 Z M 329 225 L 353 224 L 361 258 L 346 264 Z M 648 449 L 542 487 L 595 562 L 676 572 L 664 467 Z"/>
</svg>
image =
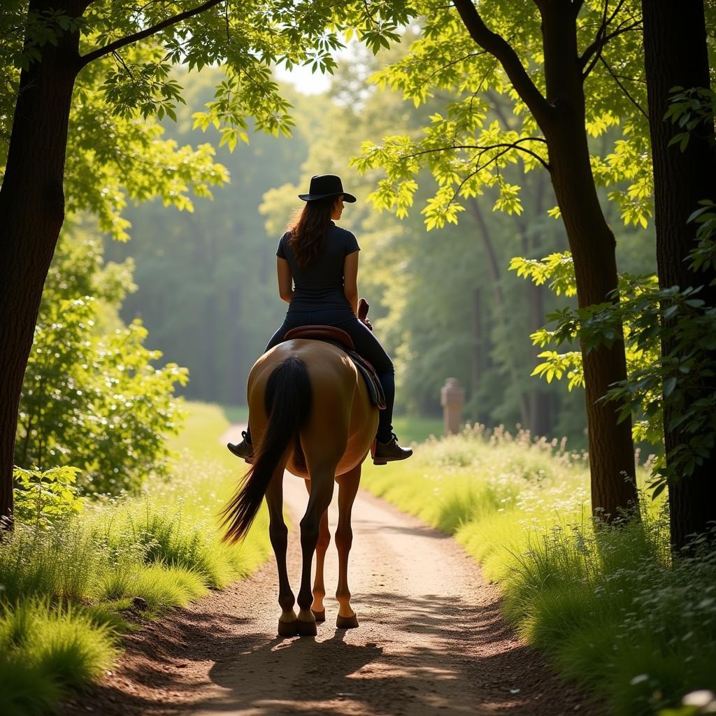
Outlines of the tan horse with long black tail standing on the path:
<svg viewBox="0 0 716 716">
<path fill-rule="evenodd" d="M 332 344 L 294 339 L 258 359 L 248 376 L 248 408 L 254 462 L 240 489 L 223 511 L 226 541 L 246 535 L 264 495 L 269 506 L 269 535 L 279 569 L 279 635 L 316 634 L 325 620 L 323 567 L 331 536 L 328 507 L 338 483 L 339 557 L 336 597 L 340 629 L 357 627 L 348 589 L 352 543 L 351 509 L 361 465 L 378 426 L 378 411 L 362 376 L 344 352 Z M 288 528 L 284 523 L 284 470 L 306 480 L 309 492 L 301 519 L 299 613 L 286 572 Z M 316 551 L 316 580 L 311 594 L 311 562 Z"/>
</svg>

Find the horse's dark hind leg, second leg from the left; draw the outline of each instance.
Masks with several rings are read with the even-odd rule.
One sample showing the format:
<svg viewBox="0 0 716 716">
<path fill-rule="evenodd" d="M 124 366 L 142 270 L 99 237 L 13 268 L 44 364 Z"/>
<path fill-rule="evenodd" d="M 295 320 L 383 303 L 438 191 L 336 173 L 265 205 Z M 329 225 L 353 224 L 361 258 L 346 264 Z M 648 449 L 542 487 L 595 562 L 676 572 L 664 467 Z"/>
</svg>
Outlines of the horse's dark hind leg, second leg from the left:
<svg viewBox="0 0 716 716">
<path fill-rule="evenodd" d="M 313 592 L 311 591 L 311 563 L 316 544 L 319 541 L 321 520 L 333 498 L 335 465 L 322 466 L 311 470 L 311 492 L 306 514 L 301 519 L 301 589 L 299 590 L 299 634 L 316 634 L 316 619 L 311 612 Z"/>
</svg>

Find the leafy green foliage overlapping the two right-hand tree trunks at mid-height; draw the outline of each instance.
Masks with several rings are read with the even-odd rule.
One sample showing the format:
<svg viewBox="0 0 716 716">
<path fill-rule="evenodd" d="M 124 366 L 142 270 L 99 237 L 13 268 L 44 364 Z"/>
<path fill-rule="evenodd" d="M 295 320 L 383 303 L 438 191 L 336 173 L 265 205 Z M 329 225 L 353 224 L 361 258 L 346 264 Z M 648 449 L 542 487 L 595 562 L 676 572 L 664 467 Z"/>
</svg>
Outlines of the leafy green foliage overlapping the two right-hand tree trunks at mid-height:
<svg viewBox="0 0 716 716">
<path fill-rule="evenodd" d="M 683 151 L 692 132 L 699 131 L 705 122 L 713 124 L 714 97 L 709 89 L 674 90 L 664 120 L 678 123 L 683 131 L 674 135 L 672 145 Z M 554 311 L 546 316 L 553 326 L 532 334 L 533 343 L 541 348 L 573 344 L 579 339 L 589 352 L 619 339 L 623 326 L 629 376 L 614 384 L 603 400 L 616 404 L 622 420 L 636 416 L 634 440 L 649 442 L 658 454 L 650 483 L 655 495 L 667 484 L 689 478 L 716 445 L 716 391 L 712 381 L 716 307 L 703 298 L 716 265 L 712 198 L 701 200 L 687 223 L 695 224 L 695 245 L 686 258 L 695 285 L 660 287 L 656 274 L 625 273 L 614 302 Z M 571 296 L 576 291 L 569 252 L 554 253 L 539 261 L 516 257 L 510 268 L 534 284 L 548 283 L 558 296 Z M 712 279 L 711 284 L 715 281 Z M 548 349 L 539 357 L 544 362 L 533 374 L 546 377 L 548 382 L 553 377 L 566 377 L 569 390 L 584 384 L 579 351 Z M 665 409 L 670 415 L 667 426 Z M 684 436 L 668 455 L 664 454 L 664 427 L 679 428 Z"/>
</svg>

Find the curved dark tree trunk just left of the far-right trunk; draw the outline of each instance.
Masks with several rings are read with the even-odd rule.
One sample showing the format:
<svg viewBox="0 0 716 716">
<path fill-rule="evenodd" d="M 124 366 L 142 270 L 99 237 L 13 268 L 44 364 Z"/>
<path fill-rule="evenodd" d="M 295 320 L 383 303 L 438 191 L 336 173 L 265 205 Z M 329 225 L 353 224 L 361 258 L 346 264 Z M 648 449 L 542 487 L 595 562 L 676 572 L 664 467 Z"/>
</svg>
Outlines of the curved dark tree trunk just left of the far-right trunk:
<svg viewBox="0 0 716 716">
<path fill-rule="evenodd" d="M 617 286 L 614 234 L 604 219 L 591 173 L 584 127 L 584 85 L 576 45 L 576 16 L 560 3 L 542 10 L 547 101 L 554 108 L 541 127 L 569 248 L 579 306 L 609 300 Z M 637 505 L 632 422 L 617 423 L 614 405 L 598 402 L 609 386 L 627 378 L 624 342 L 582 350 L 589 428 L 591 504 L 607 520 Z"/>
</svg>

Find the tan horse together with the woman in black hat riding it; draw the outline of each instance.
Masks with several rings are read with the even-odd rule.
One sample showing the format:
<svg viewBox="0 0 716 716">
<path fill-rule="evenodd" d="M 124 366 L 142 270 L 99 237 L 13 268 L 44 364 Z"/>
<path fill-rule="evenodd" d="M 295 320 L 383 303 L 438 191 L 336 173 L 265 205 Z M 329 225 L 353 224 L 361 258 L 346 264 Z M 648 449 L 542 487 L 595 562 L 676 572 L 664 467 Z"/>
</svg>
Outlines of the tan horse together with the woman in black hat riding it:
<svg viewBox="0 0 716 716">
<path fill-rule="evenodd" d="M 223 511 L 228 527 L 225 539 L 246 535 L 266 496 L 269 535 L 279 570 L 279 635 L 316 634 L 316 621 L 325 621 L 323 567 L 330 542 L 328 507 L 334 482 L 339 485 L 336 546 L 339 575 L 336 625 L 358 626 L 350 604 L 347 571 L 352 543 L 351 509 L 360 482 L 361 465 L 374 438 L 374 462 L 384 464 L 412 455 L 397 444 L 391 415 L 395 380 L 390 358 L 373 337 L 368 321 L 357 318 L 358 251 L 355 236 L 337 227 L 343 201 L 355 197 L 343 191 L 334 175 L 311 179 L 301 216 L 281 238 L 277 263 L 279 293 L 289 301 L 284 325 L 274 334 L 266 352 L 248 377 L 251 434 L 243 433 L 232 453 L 252 463 L 241 488 Z M 292 281 L 295 288 L 292 286 Z M 377 369 L 387 403 L 380 411 L 364 379 L 341 348 L 310 339 L 284 342 L 296 326 L 327 324 L 343 329 L 357 350 Z M 288 530 L 284 523 L 284 470 L 306 480 L 309 501 L 301 519 L 301 588 L 299 613 L 286 570 Z M 316 579 L 311 591 L 311 562 L 316 552 Z"/>
</svg>

